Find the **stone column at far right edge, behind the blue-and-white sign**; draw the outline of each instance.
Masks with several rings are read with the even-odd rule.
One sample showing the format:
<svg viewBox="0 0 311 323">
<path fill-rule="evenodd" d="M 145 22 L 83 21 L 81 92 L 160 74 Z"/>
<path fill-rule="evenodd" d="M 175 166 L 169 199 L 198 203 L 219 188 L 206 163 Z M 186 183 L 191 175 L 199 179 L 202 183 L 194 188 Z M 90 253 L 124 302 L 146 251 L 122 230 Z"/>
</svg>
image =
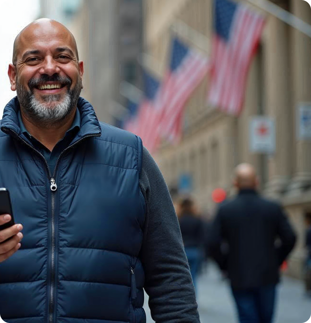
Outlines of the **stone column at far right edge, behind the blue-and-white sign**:
<svg viewBox="0 0 311 323">
<path fill-rule="evenodd" d="M 291 1 L 292 13 L 311 24 L 311 7 L 306 1 Z M 291 28 L 293 69 L 293 127 L 294 131 L 294 176 L 289 193 L 300 193 L 311 183 L 311 141 L 297 137 L 297 107 L 301 102 L 311 104 L 311 38 Z"/>
</svg>

